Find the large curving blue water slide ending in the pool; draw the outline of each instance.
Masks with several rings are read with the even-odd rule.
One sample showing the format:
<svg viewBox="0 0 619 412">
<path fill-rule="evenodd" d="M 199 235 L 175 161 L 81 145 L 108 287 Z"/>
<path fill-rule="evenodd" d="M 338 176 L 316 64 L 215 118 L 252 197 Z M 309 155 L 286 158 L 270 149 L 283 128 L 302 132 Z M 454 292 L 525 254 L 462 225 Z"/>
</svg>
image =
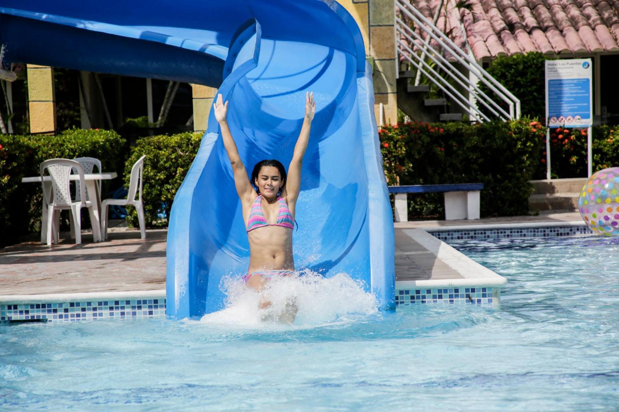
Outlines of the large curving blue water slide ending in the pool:
<svg viewBox="0 0 619 412">
<path fill-rule="evenodd" d="M 4 61 L 169 79 L 219 88 L 248 170 L 288 165 L 305 92 L 316 116 L 303 161 L 295 266 L 345 272 L 394 307 L 394 232 L 361 33 L 334 1 L 2 0 Z M 249 245 L 232 169 L 211 113 L 172 207 L 167 314 L 222 309 Z"/>
</svg>

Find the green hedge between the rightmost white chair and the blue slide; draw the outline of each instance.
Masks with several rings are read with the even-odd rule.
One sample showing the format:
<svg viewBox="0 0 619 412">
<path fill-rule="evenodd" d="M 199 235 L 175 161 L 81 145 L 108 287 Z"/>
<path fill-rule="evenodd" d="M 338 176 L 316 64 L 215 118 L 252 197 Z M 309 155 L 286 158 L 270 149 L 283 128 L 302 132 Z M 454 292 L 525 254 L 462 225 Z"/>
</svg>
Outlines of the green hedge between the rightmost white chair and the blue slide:
<svg viewBox="0 0 619 412">
<path fill-rule="evenodd" d="M 142 201 L 147 226 L 167 226 L 174 196 L 196 157 L 201 140 L 202 133 L 149 136 L 137 140 L 131 148 L 124 166 L 124 185 L 129 187 L 131 168 L 146 155 Z M 129 225 L 137 226 L 136 208 L 128 207 L 127 212 Z"/>
</svg>

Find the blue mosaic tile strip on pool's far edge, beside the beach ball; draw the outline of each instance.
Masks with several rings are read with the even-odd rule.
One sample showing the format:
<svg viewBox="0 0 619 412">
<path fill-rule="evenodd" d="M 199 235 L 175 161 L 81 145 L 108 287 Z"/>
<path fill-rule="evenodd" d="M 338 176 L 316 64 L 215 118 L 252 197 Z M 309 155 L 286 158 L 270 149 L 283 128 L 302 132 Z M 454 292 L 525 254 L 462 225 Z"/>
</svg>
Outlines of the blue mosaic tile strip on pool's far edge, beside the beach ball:
<svg viewBox="0 0 619 412">
<path fill-rule="evenodd" d="M 441 241 L 483 240 L 504 238 L 553 238 L 594 234 L 587 226 L 554 226 L 548 228 L 472 229 L 453 231 L 428 231 Z"/>
</svg>

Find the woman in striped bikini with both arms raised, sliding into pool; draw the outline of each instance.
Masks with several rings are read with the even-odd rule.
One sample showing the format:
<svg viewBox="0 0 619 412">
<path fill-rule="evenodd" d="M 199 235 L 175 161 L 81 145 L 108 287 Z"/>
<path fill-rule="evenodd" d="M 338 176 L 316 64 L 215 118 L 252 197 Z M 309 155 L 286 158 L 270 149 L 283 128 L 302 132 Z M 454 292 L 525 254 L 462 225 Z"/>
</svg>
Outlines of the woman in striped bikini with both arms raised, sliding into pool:
<svg viewBox="0 0 619 412">
<path fill-rule="evenodd" d="M 249 268 L 243 280 L 255 291 L 261 291 L 272 277 L 290 276 L 295 272 L 292 229 L 301 186 L 301 163 L 308 147 L 315 106 L 313 93 L 306 93 L 305 118 L 288 174 L 279 161 L 262 160 L 254 166 L 249 181 L 226 122 L 228 101 L 224 104 L 222 95 L 218 95 L 214 105 L 223 145 L 232 163 L 236 193 L 243 205 L 243 220 L 249 239 Z M 261 308 L 270 304 L 261 298 Z"/>
</svg>

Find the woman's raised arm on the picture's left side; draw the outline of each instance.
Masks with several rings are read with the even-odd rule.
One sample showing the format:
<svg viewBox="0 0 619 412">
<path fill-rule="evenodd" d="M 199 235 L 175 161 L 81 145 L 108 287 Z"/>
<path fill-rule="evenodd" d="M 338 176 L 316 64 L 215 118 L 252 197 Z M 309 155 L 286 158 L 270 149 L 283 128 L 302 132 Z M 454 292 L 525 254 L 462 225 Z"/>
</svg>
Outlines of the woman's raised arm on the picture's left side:
<svg viewBox="0 0 619 412">
<path fill-rule="evenodd" d="M 214 108 L 215 119 L 219 122 L 219 127 L 222 131 L 223 146 L 226 148 L 226 153 L 228 153 L 228 158 L 232 164 L 232 173 L 234 175 L 236 193 L 238 194 L 238 197 L 240 197 L 241 201 L 251 202 L 254 200 L 251 197 L 256 194 L 256 191 L 254 191 L 254 188 L 249 182 L 245 165 L 243 165 L 243 161 L 241 161 L 241 157 L 238 155 L 238 149 L 236 148 L 234 139 L 232 139 L 232 134 L 230 134 L 230 128 L 228 127 L 228 122 L 226 121 L 226 115 L 228 114 L 228 102 L 226 101 L 225 104 L 223 103 L 222 95 L 217 95 L 217 101 L 215 101 Z"/>
</svg>

